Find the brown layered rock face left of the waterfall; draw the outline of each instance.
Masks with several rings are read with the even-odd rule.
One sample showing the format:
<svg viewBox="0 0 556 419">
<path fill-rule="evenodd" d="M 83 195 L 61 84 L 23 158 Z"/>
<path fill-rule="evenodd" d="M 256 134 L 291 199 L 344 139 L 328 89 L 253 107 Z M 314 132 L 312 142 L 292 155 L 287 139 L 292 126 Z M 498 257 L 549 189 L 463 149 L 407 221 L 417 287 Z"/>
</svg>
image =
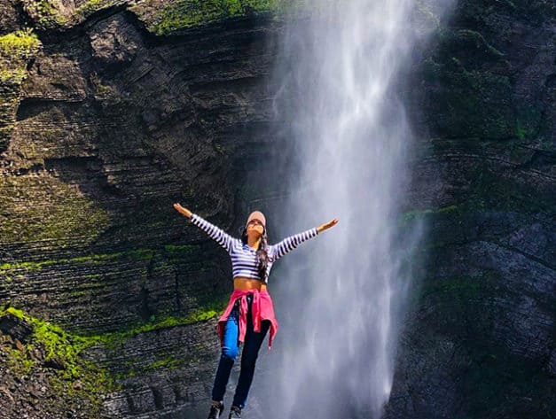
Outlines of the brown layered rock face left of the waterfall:
<svg viewBox="0 0 556 419">
<path fill-rule="evenodd" d="M 6 48 L 6 71 L 19 78 L 2 90 L 0 300 L 23 309 L 28 327 L 40 319 L 69 334 L 55 355 L 51 335 L 17 338 L 4 327 L 8 417 L 22 407 L 33 417 L 57 408 L 157 417 L 209 397 L 219 347 L 208 319 L 231 290 L 229 261 L 172 204 L 235 231 L 235 215 L 257 198 L 242 185 L 255 159 L 278 146 L 264 82 L 276 28 L 243 17 L 161 38 L 143 9 L 130 8 L 80 19 L 53 10 L 45 23 L 8 7 L 11 45 L 25 48 Z M 16 32 L 18 19 L 37 30 Z M 106 378 L 96 409 L 78 384 L 92 379 L 80 376 L 87 369 L 60 378 L 52 392 L 64 403 L 43 398 L 49 380 L 35 379 L 71 370 L 48 360 L 81 337 L 82 356 Z M 31 392 L 42 403 L 27 406 Z"/>
</svg>

